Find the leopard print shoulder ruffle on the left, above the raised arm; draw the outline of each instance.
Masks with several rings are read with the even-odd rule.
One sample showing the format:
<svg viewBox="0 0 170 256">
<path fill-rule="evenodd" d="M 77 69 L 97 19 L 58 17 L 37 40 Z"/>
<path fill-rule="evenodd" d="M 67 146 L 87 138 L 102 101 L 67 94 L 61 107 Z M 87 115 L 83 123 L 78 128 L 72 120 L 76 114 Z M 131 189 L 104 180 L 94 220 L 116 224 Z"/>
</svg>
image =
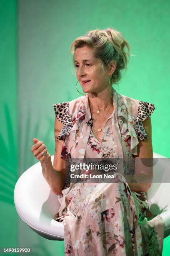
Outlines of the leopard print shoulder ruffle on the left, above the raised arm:
<svg viewBox="0 0 170 256">
<path fill-rule="evenodd" d="M 64 140 L 65 137 L 70 134 L 70 131 L 73 127 L 73 121 L 70 117 L 68 106 L 69 102 L 53 104 L 55 115 L 57 119 L 63 124 L 63 127 L 57 136 L 57 139 L 59 140 Z"/>
</svg>

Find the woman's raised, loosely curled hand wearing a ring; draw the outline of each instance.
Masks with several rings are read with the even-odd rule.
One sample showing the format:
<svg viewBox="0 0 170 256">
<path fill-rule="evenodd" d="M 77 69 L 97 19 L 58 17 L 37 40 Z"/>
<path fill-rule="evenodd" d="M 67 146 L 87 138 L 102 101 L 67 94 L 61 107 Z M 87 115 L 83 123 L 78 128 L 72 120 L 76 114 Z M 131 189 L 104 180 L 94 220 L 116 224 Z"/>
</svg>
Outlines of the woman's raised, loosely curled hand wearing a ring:
<svg viewBox="0 0 170 256">
<path fill-rule="evenodd" d="M 33 142 L 35 144 L 31 148 L 33 155 L 41 162 L 45 162 L 50 156 L 45 144 L 42 141 L 38 141 L 36 138 L 33 139 Z"/>
</svg>

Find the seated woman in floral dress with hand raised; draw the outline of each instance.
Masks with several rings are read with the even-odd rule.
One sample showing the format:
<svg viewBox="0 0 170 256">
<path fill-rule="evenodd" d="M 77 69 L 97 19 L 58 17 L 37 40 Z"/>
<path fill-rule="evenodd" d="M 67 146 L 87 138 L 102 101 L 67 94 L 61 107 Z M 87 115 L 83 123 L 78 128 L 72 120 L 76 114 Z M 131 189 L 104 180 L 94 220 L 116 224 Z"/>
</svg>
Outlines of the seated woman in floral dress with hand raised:
<svg viewBox="0 0 170 256">
<path fill-rule="evenodd" d="M 127 164 L 123 173 L 117 172 L 114 183 L 65 183 L 67 158 L 153 158 L 150 115 L 154 105 L 112 88 L 120 81 L 130 55 L 121 33 L 112 28 L 89 31 L 73 41 L 71 53 L 85 95 L 54 104 L 53 166 L 43 142 L 34 139 L 32 146 L 45 179 L 61 202 L 54 218 L 64 224 L 65 255 L 162 255 L 163 219 L 160 215 L 153 218 L 145 196 L 152 168 L 135 165 L 135 174 L 140 174 L 143 183 L 133 183 L 123 175 L 132 173 Z M 90 174 L 86 171 L 81 173 Z"/>
</svg>

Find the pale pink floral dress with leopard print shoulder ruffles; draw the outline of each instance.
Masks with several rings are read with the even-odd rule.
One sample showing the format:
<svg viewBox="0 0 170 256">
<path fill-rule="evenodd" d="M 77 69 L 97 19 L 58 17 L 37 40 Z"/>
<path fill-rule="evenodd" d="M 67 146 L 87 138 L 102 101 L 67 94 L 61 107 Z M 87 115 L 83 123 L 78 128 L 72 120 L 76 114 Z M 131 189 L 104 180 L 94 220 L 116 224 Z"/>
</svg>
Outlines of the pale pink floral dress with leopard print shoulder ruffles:
<svg viewBox="0 0 170 256">
<path fill-rule="evenodd" d="M 91 118 L 87 95 L 54 105 L 64 124 L 58 136 L 63 159 L 131 159 L 138 154 L 138 140 L 147 138 L 142 121 L 155 107 L 115 90 L 113 100 L 101 143 L 87 125 Z M 65 184 L 58 197 L 61 206 L 54 219 L 64 224 L 65 255 L 162 255 L 163 219 L 152 215 L 145 192 L 131 191 L 121 173 L 115 183 Z"/>
</svg>

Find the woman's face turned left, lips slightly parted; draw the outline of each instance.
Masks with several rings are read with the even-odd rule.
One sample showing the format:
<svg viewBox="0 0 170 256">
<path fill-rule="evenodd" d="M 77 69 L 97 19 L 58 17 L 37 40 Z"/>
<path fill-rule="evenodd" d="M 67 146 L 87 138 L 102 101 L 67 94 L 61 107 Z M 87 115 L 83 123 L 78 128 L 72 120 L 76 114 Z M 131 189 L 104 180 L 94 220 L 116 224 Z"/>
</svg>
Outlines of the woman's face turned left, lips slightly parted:
<svg viewBox="0 0 170 256">
<path fill-rule="evenodd" d="M 103 72 L 100 60 L 93 56 L 92 48 L 88 46 L 77 48 L 74 54 L 74 65 L 77 80 L 83 92 L 98 93 L 109 86 L 110 77 Z"/>
</svg>

